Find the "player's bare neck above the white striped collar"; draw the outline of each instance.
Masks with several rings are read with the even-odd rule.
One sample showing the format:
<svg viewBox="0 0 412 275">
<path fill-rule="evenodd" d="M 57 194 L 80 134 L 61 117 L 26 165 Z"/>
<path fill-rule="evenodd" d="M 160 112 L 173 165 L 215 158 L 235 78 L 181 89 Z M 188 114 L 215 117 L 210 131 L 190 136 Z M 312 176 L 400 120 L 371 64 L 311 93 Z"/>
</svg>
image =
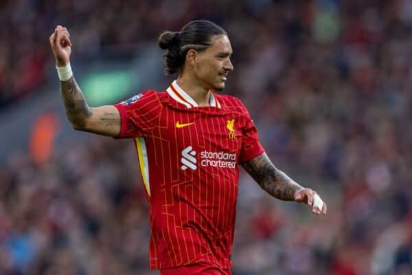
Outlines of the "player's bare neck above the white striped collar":
<svg viewBox="0 0 412 275">
<path fill-rule="evenodd" d="M 191 97 L 200 107 L 209 106 L 209 89 L 198 83 L 196 78 L 179 76 L 177 84 Z"/>
</svg>

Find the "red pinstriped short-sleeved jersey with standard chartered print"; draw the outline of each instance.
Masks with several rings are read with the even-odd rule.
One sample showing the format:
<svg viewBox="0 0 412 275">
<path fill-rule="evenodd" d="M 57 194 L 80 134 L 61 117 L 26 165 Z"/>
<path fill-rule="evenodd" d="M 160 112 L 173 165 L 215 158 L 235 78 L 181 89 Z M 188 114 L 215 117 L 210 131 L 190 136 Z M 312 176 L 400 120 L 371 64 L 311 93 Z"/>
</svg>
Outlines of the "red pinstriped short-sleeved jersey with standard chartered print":
<svg viewBox="0 0 412 275">
<path fill-rule="evenodd" d="M 135 138 L 149 202 L 150 268 L 231 267 L 238 164 L 264 152 L 242 102 L 210 91 L 198 107 L 177 85 L 116 104 Z"/>
</svg>

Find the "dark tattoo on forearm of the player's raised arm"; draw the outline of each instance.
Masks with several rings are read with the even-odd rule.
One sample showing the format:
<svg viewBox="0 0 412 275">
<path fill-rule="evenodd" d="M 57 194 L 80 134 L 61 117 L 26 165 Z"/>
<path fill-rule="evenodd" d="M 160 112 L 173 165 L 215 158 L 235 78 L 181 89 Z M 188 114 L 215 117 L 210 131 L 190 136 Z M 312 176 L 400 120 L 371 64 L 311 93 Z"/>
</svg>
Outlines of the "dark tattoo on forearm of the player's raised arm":
<svg viewBox="0 0 412 275">
<path fill-rule="evenodd" d="M 93 112 L 86 98 L 76 83 L 74 76 L 67 81 L 60 81 L 60 92 L 66 108 L 66 115 L 73 126 L 81 127 L 84 118 L 90 118 Z"/>
</svg>

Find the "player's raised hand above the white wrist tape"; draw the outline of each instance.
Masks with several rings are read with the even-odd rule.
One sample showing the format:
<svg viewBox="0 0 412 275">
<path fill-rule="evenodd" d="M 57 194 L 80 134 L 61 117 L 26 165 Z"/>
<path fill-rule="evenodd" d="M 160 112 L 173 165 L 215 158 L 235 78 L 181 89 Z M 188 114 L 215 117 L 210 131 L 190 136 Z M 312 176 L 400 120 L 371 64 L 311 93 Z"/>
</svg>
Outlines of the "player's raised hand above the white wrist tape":
<svg viewBox="0 0 412 275">
<path fill-rule="evenodd" d="M 52 33 L 49 40 L 54 58 L 56 58 L 56 66 L 64 67 L 69 63 L 71 54 L 69 31 L 67 31 L 67 28 L 58 25 L 56 29 L 54 29 L 54 33 Z"/>
</svg>

